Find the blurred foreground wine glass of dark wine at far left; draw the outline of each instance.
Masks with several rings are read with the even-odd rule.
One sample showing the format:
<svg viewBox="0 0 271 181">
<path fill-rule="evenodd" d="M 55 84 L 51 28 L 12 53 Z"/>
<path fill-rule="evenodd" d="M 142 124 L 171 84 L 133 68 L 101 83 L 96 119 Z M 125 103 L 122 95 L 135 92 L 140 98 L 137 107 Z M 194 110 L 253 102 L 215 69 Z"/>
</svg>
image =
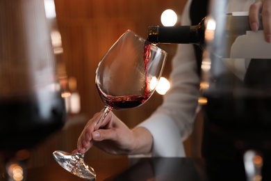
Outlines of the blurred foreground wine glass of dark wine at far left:
<svg viewBox="0 0 271 181">
<path fill-rule="evenodd" d="M 1 1 L 0 11 L 0 180 L 27 180 L 28 149 L 63 127 L 65 104 L 44 2 Z"/>
</svg>

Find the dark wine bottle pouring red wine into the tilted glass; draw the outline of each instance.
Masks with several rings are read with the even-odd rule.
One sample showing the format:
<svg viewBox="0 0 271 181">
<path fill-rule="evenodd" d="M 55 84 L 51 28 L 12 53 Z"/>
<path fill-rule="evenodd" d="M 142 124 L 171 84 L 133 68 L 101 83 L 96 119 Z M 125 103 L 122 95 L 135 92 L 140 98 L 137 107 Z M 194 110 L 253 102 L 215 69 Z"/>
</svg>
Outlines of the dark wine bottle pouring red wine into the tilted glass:
<svg viewBox="0 0 271 181">
<path fill-rule="evenodd" d="M 260 17 L 261 18 L 261 17 Z M 225 26 L 223 33 L 230 36 L 240 36 L 250 31 L 248 15 L 227 14 L 222 20 L 227 22 L 218 22 L 218 25 Z M 154 44 L 158 43 L 179 43 L 179 44 L 197 44 L 204 47 L 204 34 L 206 29 L 206 17 L 201 22 L 193 26 L 149 26 L 147 40 Z M 260 19 L 261 20 L 261 19 Z M 261 22 L 261 21 L 260 21 Z M 262 24 L 259 27 L 263 29 Z"/>
</svg>

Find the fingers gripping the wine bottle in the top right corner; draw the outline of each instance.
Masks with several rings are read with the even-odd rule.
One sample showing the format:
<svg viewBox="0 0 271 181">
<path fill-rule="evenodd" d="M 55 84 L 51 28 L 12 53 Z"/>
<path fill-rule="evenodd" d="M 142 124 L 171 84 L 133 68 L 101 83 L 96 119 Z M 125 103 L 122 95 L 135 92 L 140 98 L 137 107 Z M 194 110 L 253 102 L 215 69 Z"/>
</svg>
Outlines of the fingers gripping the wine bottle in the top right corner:
<svg viewBox="0 0 271 181">
<path fill-rule="evenodd" d="M 249 8 L 249 23 L 253 31 L 258 31 L 259 15 L 262 15 L 265 41 L 271 42 L 271 0 L 256 0 Z"/>
</svg>

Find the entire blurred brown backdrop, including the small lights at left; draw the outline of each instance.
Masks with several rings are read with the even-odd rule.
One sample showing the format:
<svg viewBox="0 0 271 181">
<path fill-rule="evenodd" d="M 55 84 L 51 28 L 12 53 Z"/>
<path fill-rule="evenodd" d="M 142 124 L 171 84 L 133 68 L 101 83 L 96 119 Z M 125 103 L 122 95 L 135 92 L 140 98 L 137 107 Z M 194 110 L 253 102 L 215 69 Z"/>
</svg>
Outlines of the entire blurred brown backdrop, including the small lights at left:
<svg viewBox="0 0 271 181">
<path fill-rule="evenodd" d="M 30 166 L 55 162 L 51 155 L 54 150 L 67 152 L 74 150 L 85 123 L 94 113 L 104 108 L 95 86 L 95 70 L 102 56 L 122 33 L 131 29 L 142 38 L 147 38 L 148 26 L 162 25 L 161 14 L 166 9 L 175 11 L 178 17 L 176 24 L 179 25 L 186 0 L 45 0 L 45 2 L 48 6 L 55 6 L 56 10 L 56 15 L 49 17 L 49 23 L 68 118 L 62 130 L 49 136 L 46 141 L 31 150 Z M 168 79 L 176 45 L 167 44 L 159 47 L 169 54 L 163 72 L 163 77 Z M 148 118 L 162 101 L 163 96 L 154 93 L 141 107 L 114 113 L 126 125 L 134 127 Z M 200 157 L 201 120 L 199 114 L 193 134 L 185 141 L 188 157 Z M 97 148 L 91 148 L 85 157 L 101 159 L 122 156 L 108 155 Z"/>
</svg>

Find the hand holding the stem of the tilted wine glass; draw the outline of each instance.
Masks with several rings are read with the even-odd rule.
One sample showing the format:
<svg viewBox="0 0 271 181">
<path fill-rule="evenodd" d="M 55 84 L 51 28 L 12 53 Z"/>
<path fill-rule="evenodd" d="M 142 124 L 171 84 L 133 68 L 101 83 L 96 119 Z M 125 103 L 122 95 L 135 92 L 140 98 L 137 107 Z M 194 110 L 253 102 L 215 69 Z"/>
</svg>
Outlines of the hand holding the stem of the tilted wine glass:
<svg viewBox="0 0 271 181">
<path fill-rule="evenodd" d="M 101 112 L 96 113 L 85 125 L 72 154 L 84 154 L 92 145 L 113 155 L 151 152 L 152 136 L 147 129 L 129 129 L 112 111 L 97 125 L 100 116 Z"/>
</svg>

